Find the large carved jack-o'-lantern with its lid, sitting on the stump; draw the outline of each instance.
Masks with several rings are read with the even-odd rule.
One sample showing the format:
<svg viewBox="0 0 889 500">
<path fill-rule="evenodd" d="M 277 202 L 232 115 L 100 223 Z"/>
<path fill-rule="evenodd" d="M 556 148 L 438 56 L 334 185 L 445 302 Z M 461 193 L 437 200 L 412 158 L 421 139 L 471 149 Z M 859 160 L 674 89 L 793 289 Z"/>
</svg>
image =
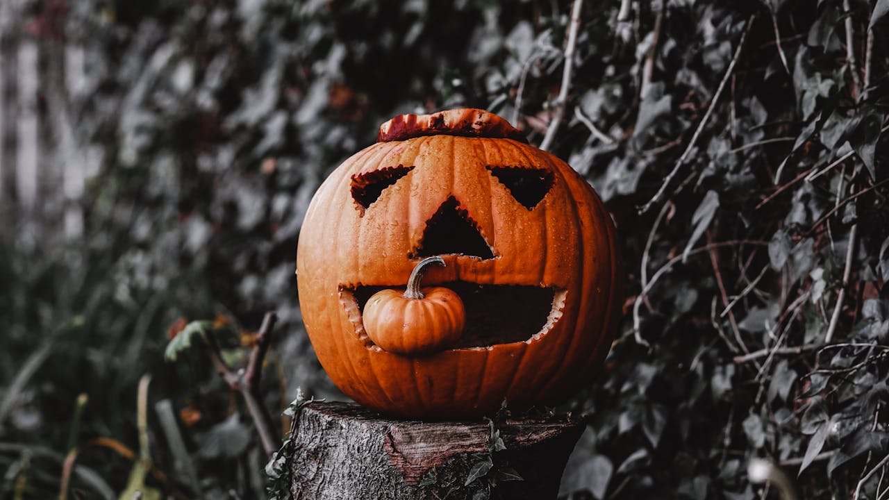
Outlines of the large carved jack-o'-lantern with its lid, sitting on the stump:
<svg viewBox="0 0 889 500">
<path fill-rule="evenodd" d="M 367 301 L 441 257 L 465 307 L 453 343 L 388 351 Z M 349 397 L 428 420 L 552 406 L 596 372 L 620 317 L 611 217 L 580 174 L 481 109 L 403 115 L 316 192 L 297 253 L 318 360 Z"/>
</svg>

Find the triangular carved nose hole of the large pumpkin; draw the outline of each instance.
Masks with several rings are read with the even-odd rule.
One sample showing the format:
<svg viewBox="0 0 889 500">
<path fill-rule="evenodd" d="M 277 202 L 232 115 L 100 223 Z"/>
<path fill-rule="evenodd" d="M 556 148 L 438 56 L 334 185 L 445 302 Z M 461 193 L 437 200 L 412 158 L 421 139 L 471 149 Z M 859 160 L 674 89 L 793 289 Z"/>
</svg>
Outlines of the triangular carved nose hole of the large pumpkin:
<svg viewBox="0 0 889 500">
<path fill-rule="evenodd" d="M 479 259 L 493 259 L 491 246 L 478 232 L 469 212 L 460 207 L 457 198 L 447 198 L 432 218 L 426 222 L 426 230 L 420 246 L 411 258 L 433 255 L 461 254 Z"/>
</svg>

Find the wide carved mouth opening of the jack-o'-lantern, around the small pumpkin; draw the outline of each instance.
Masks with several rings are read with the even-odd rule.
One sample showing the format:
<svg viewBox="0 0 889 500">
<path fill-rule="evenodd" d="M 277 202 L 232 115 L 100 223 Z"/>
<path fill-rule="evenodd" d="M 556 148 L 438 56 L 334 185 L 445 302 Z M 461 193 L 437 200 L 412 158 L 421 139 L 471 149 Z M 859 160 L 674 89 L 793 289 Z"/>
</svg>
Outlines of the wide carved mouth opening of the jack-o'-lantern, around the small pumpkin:
<svg viewBox="0 0 889 500">
<path fill-rule="evenodd" d="M 446 286 L 460 295 L 466 327 L 452 349 L 484 349 L 500 343 L 531 343 L 546 335 L 562 317 L 565 290 L 523 285 L 478 285 L 453 281 Z M 364 304 L 372 294 L 393 286 L 340 286 L 340 302 L 356 335 L 379 349 L 364 332 Z"/>
</svg>

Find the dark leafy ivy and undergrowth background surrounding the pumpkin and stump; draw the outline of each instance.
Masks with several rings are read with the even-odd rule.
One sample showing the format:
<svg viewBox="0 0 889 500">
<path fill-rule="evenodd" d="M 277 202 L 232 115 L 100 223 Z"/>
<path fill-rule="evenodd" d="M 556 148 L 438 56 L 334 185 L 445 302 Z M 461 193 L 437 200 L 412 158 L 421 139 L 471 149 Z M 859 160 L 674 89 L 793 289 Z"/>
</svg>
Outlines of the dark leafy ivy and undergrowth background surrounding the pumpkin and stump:
<svg viewBox="0 0 889 500">
<path fill-rule="evenodd" d="M 564 497 L 777 498 L 765 457 L 805 498 L 876 498 L 886 12 L 0 0 L 0 497 L 274 496 L 239 396 L 168 341 L 213 321 L 238 367 L 276 310 L 269 411 L 341 399 L 300 322 L 308 201 L 389 117 L 478 107 L 552 129 L 623 246 L 621 331 L 559 408 L 590 415 Z"/>
</svg>

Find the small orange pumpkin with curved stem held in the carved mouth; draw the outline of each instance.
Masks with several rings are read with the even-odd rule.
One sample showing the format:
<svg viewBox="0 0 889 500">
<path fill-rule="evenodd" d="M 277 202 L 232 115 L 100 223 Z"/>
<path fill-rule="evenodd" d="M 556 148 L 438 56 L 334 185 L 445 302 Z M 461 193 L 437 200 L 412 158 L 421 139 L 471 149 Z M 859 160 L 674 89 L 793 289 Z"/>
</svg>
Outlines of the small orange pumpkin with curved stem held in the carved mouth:
<svg viewBox="0 0 889 500">
<path fill-rule="evenodd" d="M 445 259 L 423 259 L 407 278 L 404 294 L 380 290 L 364 306 L 364 330 L 383 351 L 420 356 L 444 351 L 460 339 L 466 319 L 460 295 L 445 286 L 420 290 L 431 264 L 444 266 Z"/>
</svg>

